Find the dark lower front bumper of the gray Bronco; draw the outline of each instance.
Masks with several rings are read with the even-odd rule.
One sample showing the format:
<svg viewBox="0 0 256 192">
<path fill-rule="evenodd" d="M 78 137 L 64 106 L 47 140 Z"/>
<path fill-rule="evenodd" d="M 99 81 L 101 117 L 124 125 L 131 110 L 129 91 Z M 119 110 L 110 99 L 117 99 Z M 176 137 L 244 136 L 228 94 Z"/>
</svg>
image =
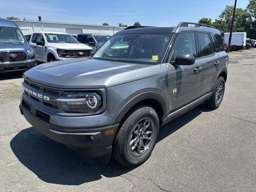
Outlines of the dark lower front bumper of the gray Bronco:
<svg viewBox="0 0 256 192">
<path fill-rule="evenodd" d="M 84 128 L 72 128 L 68 125 L 62 127 L 54 125 L 42 115 L 38 115 L 38 109 L 32 104 L 29 104 L 29 107 L 26 106 L 23 100 L 21 100 L 19 108 L 26 120 L 42 134 L 75 149 L 87 158 L 99 157 L 103 162 L 108 162 L 111 155 L 112 142 L 119 124 L 100 127 L 86 127 L 84 125 Z M 112 128 L 114 128 L 114 133 L 105 135 L 105 131 Z M 93 140 L 91 139 L 92 136 Z"/>
</svg>

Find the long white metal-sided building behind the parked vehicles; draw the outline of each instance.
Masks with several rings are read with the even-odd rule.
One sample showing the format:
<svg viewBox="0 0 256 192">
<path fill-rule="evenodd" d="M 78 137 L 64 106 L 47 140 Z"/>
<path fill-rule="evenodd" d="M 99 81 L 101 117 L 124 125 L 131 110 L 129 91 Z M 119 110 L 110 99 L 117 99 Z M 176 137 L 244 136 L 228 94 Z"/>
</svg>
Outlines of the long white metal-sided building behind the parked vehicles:
<svg viewBox="0 0 256 192">
<path fill-rule="evenodd" d="M 118 26 L 58 23 L 46 21 L 14 20 L 14 22 L 16 22 L 16 24 L 20 27 L 24 35 L 32 34 L 35 31 L 63 32 L 69 34 L 100 33 L 113 35 L 116 32 L 124 29 L 124 27 Z"/>
</svg>

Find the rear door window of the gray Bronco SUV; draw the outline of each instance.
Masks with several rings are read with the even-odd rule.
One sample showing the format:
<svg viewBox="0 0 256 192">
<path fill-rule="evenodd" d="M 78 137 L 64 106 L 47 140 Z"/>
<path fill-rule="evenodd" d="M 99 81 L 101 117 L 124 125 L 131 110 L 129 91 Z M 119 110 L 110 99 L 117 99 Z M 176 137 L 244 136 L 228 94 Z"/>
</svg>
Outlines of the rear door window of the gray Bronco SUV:
<svg viewBox="0 0 256 192">
<path fill-rule="evenodd" d="M 201 57 L 212 55 L 213 46 L 208 33 L 198 33 L 199 50 Z"/>
</svg>

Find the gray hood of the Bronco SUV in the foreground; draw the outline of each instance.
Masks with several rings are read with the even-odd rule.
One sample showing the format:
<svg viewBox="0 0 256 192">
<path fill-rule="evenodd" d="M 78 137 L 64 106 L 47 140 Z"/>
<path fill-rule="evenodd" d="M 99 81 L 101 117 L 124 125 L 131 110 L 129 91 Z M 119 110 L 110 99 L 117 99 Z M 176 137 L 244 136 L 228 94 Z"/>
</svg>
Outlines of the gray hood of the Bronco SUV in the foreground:
<svg viewBox="0 0 256 192">
<path fill-rule="evenodd" d="M 40 64 L 24 78 L 54 88 L 106 88 L 160 73 L 161 64 L 130 64 L 77 58 Z"/>
</svg>

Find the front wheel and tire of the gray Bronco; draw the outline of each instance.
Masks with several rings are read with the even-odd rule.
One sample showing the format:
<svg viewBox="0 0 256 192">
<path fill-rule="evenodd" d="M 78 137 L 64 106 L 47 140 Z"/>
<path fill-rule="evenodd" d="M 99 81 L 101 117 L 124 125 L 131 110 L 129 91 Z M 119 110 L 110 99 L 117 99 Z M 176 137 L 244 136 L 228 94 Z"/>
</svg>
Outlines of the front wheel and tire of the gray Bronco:
<svg viewBox="0 0 256 192">
<path fill-rule="evenodd" d="M 159 132 L 158 115 L 153 108 L 139 104 L 126 114 L 122 122 L 113 142 L 113 157 L 124 166 L 138 166 L 150 157 L 156 144 Z"/>
</svg>

